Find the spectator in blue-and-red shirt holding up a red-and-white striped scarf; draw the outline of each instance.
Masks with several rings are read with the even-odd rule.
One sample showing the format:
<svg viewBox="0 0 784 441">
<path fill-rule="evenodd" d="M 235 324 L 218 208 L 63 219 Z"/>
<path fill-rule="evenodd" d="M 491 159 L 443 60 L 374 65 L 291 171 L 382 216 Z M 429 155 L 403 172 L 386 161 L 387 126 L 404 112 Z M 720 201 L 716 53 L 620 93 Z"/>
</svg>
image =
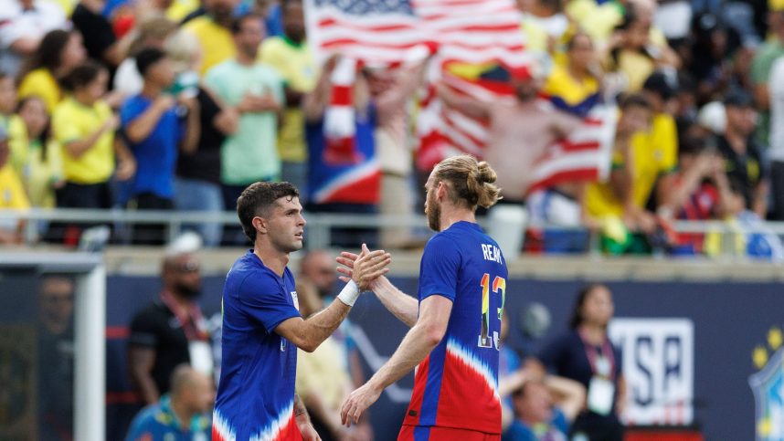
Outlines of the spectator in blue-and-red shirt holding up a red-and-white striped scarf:
<svg viewBox="0 0 784 441">
<path fill-rule="evenodd" d="M 308 200 L 314 212 L 375 214 L 381 171 L 376 161 L 376 103 L 366 69 L 350 58 L 330 58 L 305 97 L 309 151 Z M 333 229 L 333 245 L 375 247 L 367 229 Z"/>
</svg>

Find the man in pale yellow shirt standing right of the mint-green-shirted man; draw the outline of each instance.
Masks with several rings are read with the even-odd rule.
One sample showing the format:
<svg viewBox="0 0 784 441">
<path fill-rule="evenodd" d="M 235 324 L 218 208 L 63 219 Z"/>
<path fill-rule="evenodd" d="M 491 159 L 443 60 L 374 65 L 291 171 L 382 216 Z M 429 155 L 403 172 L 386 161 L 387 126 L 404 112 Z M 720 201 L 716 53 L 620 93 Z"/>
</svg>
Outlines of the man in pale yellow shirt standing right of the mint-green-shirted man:
<svg viewBox="0 0 784 441">
<path fill-rule="evenodd" d="M 275 68 L 284 81 L 286 109 L 278 132 L 281 181 L 306 188 L 308 150 L 301 103 L 302 97 L 315 88 L 319 68 L 305 41 L 302 0 L 285 0 L 281 13 L 284 35 L 268 37 L 261 43 L 260 60 Z"/>
</svg>

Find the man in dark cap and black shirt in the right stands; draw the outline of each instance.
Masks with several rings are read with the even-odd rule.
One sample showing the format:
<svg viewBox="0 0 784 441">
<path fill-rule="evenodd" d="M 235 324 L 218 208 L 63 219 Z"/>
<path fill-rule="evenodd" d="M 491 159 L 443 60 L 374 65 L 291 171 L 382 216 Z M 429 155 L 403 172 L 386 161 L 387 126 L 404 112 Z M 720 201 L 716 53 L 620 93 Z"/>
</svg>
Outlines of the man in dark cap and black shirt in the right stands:
<svg viewBox="0 0 784 441">
<path fill-rule="evenodd" d="M 724 100 L 726 127 L 716 136 L 716 148 L 725 159 L 730 179 L 742 185 L 747 209 L 765 218 L 768 211 L 768 172 L 762 149 L 753 137 L 758 113 L 754 100 L 743 90 L 734 90 Z"/>
</svg>

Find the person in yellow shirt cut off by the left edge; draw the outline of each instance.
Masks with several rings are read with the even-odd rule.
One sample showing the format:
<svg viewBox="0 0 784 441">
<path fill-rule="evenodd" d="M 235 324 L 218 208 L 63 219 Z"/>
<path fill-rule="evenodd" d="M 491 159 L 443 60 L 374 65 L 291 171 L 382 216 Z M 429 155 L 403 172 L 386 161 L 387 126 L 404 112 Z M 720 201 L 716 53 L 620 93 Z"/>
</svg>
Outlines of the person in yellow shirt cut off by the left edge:
<svg viewBox="0 0 784 441">
<path fill-rule="evenodd" d="M 0 209 L 26 210 L 30 203 L 27 201 L 22 181 L 9 161 L 10 157 L 8 132 L 0 125 Z M 23 227 L 22 220 L 0 220 L 0 245 L 21 243 Z"/>
</svg>

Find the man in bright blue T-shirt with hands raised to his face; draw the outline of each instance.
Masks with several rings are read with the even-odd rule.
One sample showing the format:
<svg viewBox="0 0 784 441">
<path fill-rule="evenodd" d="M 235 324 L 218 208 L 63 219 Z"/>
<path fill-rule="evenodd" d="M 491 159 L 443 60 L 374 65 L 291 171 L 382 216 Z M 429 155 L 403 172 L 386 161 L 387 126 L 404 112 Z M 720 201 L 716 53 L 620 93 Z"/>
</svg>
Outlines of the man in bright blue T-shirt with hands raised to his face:
<svg viewBox="0 0 784 441">
<path fill-rule="evenodd" d="M 136 56 L 144 79 L 142 92 L 120 110 L 123 134 L 136 159 L 132 205 L 142 210 L 174 208 L 178 150 L 194 152 L 200 133 L 198 101 L 170 88 L 175 82 L 171 60 L 156 48 Z M 139 226 L 134 240 L 160 244 L 164 226 Z"/>
</svg>

